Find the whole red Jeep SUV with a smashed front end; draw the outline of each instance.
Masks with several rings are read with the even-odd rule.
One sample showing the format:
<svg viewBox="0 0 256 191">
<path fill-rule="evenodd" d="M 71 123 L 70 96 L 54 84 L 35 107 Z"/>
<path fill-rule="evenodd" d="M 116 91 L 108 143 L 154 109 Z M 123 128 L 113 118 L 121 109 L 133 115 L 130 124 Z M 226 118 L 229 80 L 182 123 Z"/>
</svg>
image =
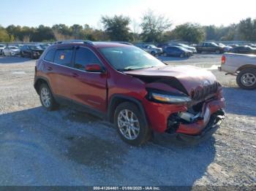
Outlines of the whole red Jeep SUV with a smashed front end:
<svg viewBox="0 0 256 191">
<path fill-rule="evenodd" d="M 113 122 L 121 139 L 140 145 L 152 132 L 197 141 L 225 117 L 222 86 L 210 71 L 167 66 L 124 43 L 59 42 L 42 54 L 34 88 L 45 109 L 72 104 Z"/>
</svg>

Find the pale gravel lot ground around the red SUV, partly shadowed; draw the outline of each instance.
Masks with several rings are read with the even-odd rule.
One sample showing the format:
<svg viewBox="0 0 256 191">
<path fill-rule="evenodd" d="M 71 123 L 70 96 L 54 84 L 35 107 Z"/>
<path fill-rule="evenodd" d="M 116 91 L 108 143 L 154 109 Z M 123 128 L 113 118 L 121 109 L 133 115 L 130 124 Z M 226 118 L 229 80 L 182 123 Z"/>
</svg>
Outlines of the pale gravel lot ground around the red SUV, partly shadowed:
<svg viewBox="0 0 256 191">
<path fill-rule="evenodd" d="M 211 70 L 224 85 L 227 118 L 208 141 L 184 147 L 157 135 L 129 147 L 89 114 L 46 112 L 35 61 L 0 56 L 0 185 L 256 185 L 256 91 L 217 71 L 220 55 L 164 60 Z"/>
</svg>

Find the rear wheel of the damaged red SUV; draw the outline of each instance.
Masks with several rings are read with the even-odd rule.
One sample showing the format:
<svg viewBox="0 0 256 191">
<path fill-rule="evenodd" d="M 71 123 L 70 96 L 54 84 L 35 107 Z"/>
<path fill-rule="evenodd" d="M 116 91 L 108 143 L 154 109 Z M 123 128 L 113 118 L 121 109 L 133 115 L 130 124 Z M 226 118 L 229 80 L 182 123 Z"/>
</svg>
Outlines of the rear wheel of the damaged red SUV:
<svg viewBox="0 0 256 191">
<path fill-rule="evenodd" d="M 58 104 L 53 98 L 53 94 L 51 93 L 50 88 L 45 83 L 39 87 L 39 96 L 41 104 L 46 110 L 53 111 L 58 108 Z"/>
</svg>

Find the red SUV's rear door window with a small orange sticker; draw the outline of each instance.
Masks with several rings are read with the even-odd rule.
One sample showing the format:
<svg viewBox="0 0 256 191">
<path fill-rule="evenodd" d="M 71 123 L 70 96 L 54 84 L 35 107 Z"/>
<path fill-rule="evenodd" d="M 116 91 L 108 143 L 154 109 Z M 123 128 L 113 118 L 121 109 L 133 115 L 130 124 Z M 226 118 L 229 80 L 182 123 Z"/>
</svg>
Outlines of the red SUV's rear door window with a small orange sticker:
<svg viewBox="0 0 256 191">
<path fill-rule="evenodd" d="M 72 54 L 73 54 L 72 49 L 56 50 L 54 63 L 58 63 L 62 66 L 71 66 Z"/>
</svg>

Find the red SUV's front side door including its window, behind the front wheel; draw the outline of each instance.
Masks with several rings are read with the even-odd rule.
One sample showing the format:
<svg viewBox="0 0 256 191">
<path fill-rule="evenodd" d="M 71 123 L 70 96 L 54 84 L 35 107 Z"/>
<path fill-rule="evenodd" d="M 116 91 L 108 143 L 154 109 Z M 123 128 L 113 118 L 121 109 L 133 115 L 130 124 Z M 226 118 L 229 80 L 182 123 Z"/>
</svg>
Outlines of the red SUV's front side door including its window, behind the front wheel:
<svg viewBox="0 0 256 191">
<path fill-rule="evenodd" d="M 99 64 L 104 68 L 97 55 L 88 47 L 77 47 L 75 51 L 74 74 L 72 85 L 72 99 L 80 104 L 97 109 L 100 112 L 106 111 L 107 97 L 107 73 L 88 72 L 86 65 Z"/>
</svg>

